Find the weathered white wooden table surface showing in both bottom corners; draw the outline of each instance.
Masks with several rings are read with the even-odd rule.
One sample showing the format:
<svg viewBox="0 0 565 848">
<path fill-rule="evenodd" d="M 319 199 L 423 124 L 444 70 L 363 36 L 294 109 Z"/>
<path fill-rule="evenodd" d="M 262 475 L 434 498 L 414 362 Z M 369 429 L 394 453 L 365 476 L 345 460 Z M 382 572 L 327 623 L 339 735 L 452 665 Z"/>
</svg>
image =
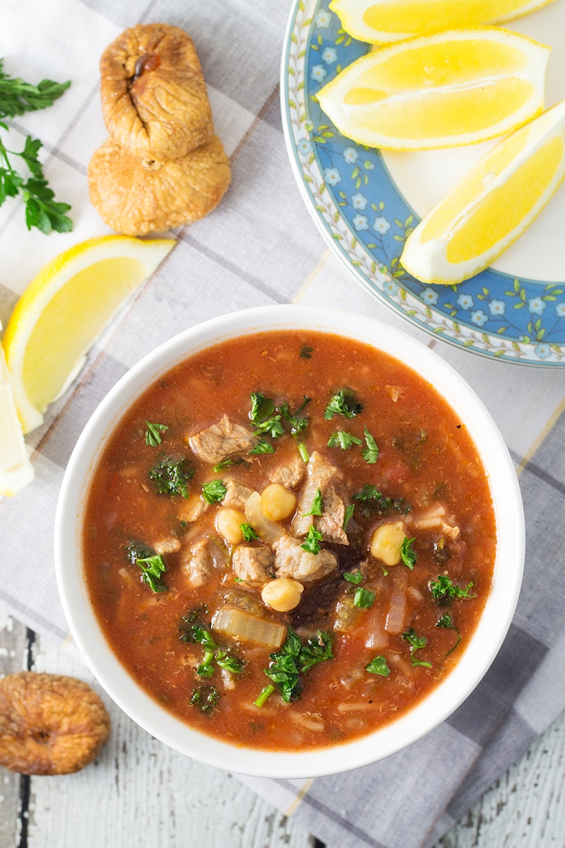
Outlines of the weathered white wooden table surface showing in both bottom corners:
<svg viewBox="0 0 565 848">
<path fill-rule="evenodd" d="M 0 848 L 323 848 L 233 775 L 138 728 L 73 650 L 0 611 L 0 673 L 30 668 L 86 680 L 112 718 L 97 762 L 61 777 L 0 768 Z M 565 714 L 435 848 L 565 848 Z"/>
</svg>

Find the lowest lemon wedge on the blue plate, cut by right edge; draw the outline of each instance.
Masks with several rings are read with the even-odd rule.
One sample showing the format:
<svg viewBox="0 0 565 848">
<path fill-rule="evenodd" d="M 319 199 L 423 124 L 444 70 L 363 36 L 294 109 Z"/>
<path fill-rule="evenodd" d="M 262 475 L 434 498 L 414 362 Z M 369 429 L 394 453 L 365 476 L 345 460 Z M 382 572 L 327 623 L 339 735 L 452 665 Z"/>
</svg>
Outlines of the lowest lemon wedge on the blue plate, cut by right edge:
<svg viewBox="0 0 565 848">
<path fill-rule="evenodd" d="M 565 176 L 565 100 L 498 142 L 407 238 L 401 262 L 421 282 L 454 284 L 516 241 Z"/>
</svg>

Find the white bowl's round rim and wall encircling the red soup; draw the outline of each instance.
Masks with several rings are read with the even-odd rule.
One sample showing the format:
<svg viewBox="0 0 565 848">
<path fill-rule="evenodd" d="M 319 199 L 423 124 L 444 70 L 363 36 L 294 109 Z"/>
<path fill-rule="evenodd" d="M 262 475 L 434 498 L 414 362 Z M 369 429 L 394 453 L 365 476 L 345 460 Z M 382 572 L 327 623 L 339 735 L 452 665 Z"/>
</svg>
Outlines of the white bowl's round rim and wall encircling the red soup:
<svg viewBox="0 0 565 848">
<path fill-rule="evenodd" d="M 191 729 L 165 711 L 125 671 L 104 639 L 88 598 L 82 526 L 88 480 L 108 435 L 131 402 L 159 375 L 225 338 L 299 328 L 335 332 L 371 344 L 409 365 L 448 400 L 474 439 L 490 481 L 498 539 L 496 563 L 485 611 L 460 661 L 411 711 L 373 734 L 329 749 L 254 750 Z M 523 508 L 512 460 L 490 414 L 457 371 L 422 343 L 379 321 L 341 310 L 293 305 L 243 310 L 206 321 L 163 343 L 131 368 L 102 400 L 76 444 L 64 475 L 55 522 L 55 563 L 64 612 L 76 644 L 108 695 L 171 748 L 229 771 L 272 778 L 317 777 L 367 765 L 410 745 L 444 721 L 479 683 L 501 647 L 518 601 L 523 555 Z"/>
</svg>

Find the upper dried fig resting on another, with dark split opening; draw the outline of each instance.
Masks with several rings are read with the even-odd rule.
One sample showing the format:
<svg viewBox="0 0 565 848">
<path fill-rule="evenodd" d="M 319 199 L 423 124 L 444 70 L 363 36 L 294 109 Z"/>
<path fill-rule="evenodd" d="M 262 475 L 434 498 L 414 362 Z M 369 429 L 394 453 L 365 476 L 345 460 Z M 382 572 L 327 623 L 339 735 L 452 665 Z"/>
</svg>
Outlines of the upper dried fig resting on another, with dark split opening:
<svg viewBox="0 0 565 848">
<path fill-rule="evenodd" d="M 138 24 L 100 60 L 102 114 L 110 136 L 141 159 L 179 159 L 208 142 L 213 121 L 191 36 Z"/>
</svg>

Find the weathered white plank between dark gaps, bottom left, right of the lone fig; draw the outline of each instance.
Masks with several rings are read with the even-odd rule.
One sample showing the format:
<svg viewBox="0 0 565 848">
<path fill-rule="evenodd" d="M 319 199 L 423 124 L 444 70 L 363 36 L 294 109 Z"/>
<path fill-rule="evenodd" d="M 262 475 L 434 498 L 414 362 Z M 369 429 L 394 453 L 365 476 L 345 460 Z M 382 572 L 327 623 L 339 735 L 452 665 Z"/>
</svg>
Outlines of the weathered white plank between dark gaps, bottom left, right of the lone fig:
<svg viewBox="0 0 565 848">
<path fill-rule="evenodd" d="M 90 683 L 108 707 L 113 730 L 97 762 L 82 772 L 31 778 L 26 848 L 313 848 L 302 826 L 232 775 L 192 761 L 141 730 L 109 700 L 74 651 L 38 637 L 34 653 L 36 671 Z"/>
</svg>

